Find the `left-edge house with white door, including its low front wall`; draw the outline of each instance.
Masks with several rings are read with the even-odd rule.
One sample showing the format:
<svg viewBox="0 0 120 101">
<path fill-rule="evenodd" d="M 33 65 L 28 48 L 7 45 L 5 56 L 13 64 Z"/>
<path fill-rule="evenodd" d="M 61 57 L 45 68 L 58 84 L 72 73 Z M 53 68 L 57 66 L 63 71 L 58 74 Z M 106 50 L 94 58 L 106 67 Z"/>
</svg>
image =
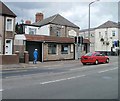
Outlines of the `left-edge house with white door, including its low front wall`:
<svg viewBox="0 0 120 101">
<path fill-rule="evenodd" d="M 0 64 L 18 63 L 17 56 L 13 54 L 15 18 L 16 15 L 0 2 Z"/>
</svg>

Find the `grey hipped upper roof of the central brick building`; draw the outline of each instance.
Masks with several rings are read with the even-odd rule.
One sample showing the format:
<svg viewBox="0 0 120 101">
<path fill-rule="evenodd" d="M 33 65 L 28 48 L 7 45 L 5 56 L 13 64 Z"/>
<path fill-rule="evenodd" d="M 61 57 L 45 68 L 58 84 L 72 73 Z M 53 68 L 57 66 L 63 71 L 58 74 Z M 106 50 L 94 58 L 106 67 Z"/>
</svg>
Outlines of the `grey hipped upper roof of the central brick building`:
<svg viewBox="0 0 120 101">
<path fill-rule="evenodd" d="M 42 21 L 33 23 L 33 25 L 36 25 L 36 26 L 43 26 L 47 24 L 56 24 L 56 25 L 61 25 L 61 26 L 79 28 L 77 25 L 73 24 L 69 20 L 62 17 L 60 14 L 56 14 L 46 19 L 43 19 Z"/>
</svg>

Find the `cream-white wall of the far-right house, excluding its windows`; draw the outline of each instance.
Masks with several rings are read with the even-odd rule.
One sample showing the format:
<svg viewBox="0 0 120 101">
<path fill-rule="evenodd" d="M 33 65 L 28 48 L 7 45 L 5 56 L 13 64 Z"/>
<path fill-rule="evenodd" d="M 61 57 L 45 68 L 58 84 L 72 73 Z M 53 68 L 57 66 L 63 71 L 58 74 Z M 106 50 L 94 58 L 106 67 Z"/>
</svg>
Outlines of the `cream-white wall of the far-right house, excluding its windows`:
<svg viewBox="0 0 120 101">
<path fill-rule="evenodd" d="M 107 32 L 107 36 L 105 35 Z M 112 31 L 115 31 L 115 36 L 112 36 Z M 101 32 L 101 37 L 99 37 L 99 32 Z M 109 45 L 103 44 L 100 39 L 103 38 L 104 41 L 108 41 Z M 118 29 L 117 28 L 103 28 L 95 30 L 95 51 L 111 51 L 112 42 L 118 40 Z"/>
</svg>

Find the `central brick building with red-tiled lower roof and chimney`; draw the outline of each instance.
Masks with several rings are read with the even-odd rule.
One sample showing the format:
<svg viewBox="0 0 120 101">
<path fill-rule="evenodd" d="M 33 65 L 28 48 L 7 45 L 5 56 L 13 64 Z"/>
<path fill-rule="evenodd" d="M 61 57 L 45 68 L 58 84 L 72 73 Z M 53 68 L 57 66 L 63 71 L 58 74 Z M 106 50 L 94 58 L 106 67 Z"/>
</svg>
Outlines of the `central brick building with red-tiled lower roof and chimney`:
<svg viewBox="0 0 120 101">
<path fill-rule="evenodd" d="M 53 61 L 75 59 L 76 46 L 74 37 L 79 33 L 79 27 L 60 14 L 44 19 L 42 13 L 37 13 L 35 23 L 26 21 L 18 27 L 15 35 L 15 51 L 28 51 L 29 60 L 33 60 L 33 51 L 38 49 L 38 60 Z"/>
</svg>

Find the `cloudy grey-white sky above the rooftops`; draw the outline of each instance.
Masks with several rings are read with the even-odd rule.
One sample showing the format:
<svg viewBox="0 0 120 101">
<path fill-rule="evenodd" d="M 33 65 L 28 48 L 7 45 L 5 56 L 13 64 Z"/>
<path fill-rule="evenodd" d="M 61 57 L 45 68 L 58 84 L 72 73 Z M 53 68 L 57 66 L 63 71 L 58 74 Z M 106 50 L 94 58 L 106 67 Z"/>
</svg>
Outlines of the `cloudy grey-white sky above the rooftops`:
<svg viewBox="0 0 120 101">
<path fill-rule="evenodd" d="M 71 0 L 64 2 L 63 0 L 59 0 L 58 2 L 38 2 L 37 0 L 27 0 L 24 2 L 16 2 L 14 0 L 2 0 L 16 15 L 16 22 L 21 21 L 21 19 L 31 20 L 35 22 L 35 14 L 37 12 L 42 12 L 44 14 L 44 18 L 50 17 L 55 14 L 60 14 L 69 21 L 73 22 L 80 29 L 88 28 L 88 5 L 91 1 L 95 0 L 84 0 L 79 2 Z M 40 1 L 40 0 L 39 0 Z M 50 0 L 49 0 L 50 1 Z M 62 2 L 60 2 L 62 1 Z M 100 0 L 94 2 L 91 5 L 91 28 L 98 27 L 104 22 L 111 20 L 114 22 L 118 22 L 118 1 L 119 0 Z"/>
</svg>

